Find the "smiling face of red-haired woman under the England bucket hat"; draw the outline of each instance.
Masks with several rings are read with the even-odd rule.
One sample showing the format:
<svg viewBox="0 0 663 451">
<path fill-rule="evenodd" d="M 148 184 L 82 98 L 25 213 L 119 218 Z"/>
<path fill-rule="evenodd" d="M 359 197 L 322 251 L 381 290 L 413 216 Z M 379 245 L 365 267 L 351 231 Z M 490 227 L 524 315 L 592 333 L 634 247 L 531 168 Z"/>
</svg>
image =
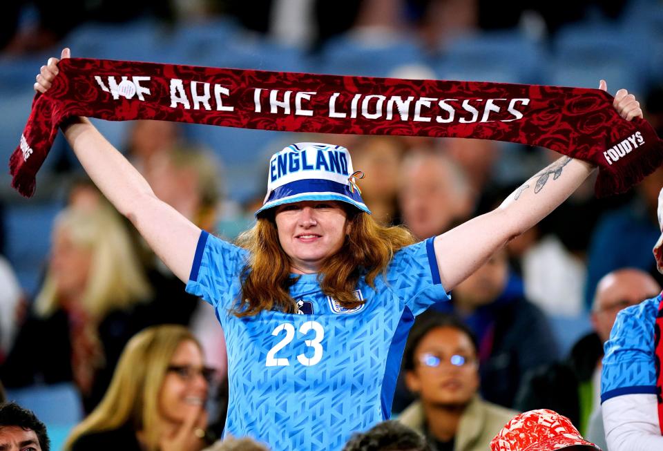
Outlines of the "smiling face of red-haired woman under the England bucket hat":
<svg viewBox="0 0 663 451">
<path fill-rule="evenodd" d="M 276 207 L 276 229 L 291 271 L 313 274 L 343 246 L 349 222 L 339 202 L 304 201 Z"/>
</svg>

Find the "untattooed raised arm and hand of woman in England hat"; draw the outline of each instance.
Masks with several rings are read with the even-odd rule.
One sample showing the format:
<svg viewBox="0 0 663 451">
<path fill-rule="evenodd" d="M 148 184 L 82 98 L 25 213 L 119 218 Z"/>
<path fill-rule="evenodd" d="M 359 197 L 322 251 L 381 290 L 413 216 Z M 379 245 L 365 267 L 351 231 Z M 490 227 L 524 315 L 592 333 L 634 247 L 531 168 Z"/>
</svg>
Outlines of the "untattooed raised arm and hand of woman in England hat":
<svg viewBox="0 0 663 451">
<path fill-rule="evenodd" d="M 69 49 L 62 50 L 68 58 Z M 57 76 L 59 59 L 41 66 L 35 90 L 46 92 Z M 85 117 L 63 127 L 64 135 L 90 179 L 117 211 L 125 215 L 173 274 L 186 282 L 193 265 L 200 229 L 159 200 L 140 173 Z"/>
</svg>

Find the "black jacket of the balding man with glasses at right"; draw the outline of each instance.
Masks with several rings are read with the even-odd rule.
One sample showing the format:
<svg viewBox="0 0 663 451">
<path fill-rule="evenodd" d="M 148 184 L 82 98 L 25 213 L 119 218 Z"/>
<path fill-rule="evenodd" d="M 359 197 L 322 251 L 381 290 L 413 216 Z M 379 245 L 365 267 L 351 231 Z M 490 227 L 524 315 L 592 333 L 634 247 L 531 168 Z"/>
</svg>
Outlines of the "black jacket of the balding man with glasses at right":
<svg viewBox="0 0 663 451">
<path fill-rule="evenodd" d="M 532 370 L 523 381 L 515 408 L 525 412 L 550 409 L 562 414 L 581 428 L 579 385 L 591 381 L 603 357 L 603 345 L 592 332 L 578 340 L 566 360 Z"/>
</svg>

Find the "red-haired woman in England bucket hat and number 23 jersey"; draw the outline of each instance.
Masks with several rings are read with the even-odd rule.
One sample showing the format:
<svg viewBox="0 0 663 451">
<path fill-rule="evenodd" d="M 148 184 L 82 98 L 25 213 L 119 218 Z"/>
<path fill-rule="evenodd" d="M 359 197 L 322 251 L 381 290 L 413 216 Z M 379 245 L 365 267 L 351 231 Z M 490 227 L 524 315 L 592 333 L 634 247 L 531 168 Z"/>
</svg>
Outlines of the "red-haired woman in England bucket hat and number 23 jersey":
<svg viewBox="0 0 663 451">
<path fill-rule="evenodd" d="M 58 61 L 41 67 L 39 93 L 51 88 Z M 626 90 L 614 106 L 625 118 L 642 115 Z M 415 242 L 407 229 L 373 219 L 347 148 L 291 144 L 269 160 L 256 224 L 231 244 L 157 198 L 88 119 L 63 131 L 108 200 L 186 290 L 214 307 L 229 367 L 224 434 L 277 449 L 340 450 L 353 432 L 389 419 L 414 317 L 448 300 L 447 291 L 596 169 L 562 157 L 497 209 Z"/>
</svg>

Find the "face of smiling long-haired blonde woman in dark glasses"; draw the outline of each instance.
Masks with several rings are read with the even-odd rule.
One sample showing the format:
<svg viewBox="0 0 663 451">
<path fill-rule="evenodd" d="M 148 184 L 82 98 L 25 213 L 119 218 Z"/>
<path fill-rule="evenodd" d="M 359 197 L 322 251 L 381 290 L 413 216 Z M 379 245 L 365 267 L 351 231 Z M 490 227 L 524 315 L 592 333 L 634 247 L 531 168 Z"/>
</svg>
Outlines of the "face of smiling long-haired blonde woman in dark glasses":
<svg viewBox="0 0 663 451">
<path fill-rule="evenodd" d="M 159 392 L 160 414 L 170 423 L 182 423 L 207 401 L 208 383 L 202 352 L 196 343 L 180 343 L 171 358 Z"/>
</svg>

